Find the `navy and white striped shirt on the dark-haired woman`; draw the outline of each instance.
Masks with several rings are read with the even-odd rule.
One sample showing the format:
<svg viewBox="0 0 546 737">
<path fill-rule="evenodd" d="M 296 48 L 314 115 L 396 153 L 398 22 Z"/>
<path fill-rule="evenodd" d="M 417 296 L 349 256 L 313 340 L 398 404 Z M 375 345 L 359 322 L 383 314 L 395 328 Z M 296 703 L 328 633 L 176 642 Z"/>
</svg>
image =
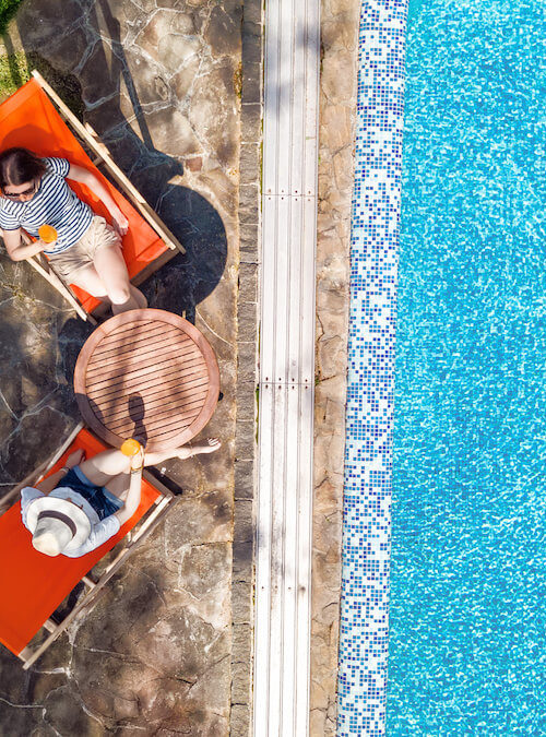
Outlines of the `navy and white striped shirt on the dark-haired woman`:
<svg viewBox="0 0 546 737">
<path fill-rule="evenodd" d="M 67 185 L 70 163 L 66 158 L 44 158 L 47 167 L 38 191 L 28 200 L 0 198 L 0 228 L 16 230 L 24 228 L 31 236 L 38 237 L 40 225 L 51 225 L 57 230 L 55 249 L 44 251 L 51 255 L 60 253 L 80 240 L 93 219 L 93 211 L 82 202 Z"/>
</svg>

